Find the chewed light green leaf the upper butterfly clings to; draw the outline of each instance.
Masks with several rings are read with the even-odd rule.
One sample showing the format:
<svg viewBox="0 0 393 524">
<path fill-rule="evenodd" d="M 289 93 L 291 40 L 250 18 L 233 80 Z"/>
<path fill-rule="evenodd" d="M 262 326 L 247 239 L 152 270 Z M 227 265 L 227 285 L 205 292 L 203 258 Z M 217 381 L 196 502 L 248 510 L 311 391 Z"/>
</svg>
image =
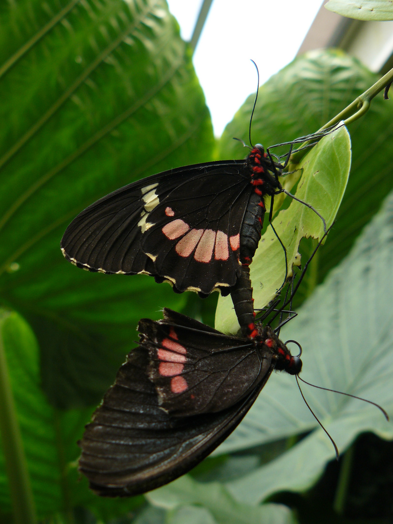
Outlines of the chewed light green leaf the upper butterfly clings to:
<svg viewBox="0 0 393 524">
<path fill-rule="evenodd" d="M 340 207 L 350 167 L 351 140 L 344 126 L 322 138 L 297 166 L 301 179 L 296 198 L 317 209 L 324 217 L 327 227 L 333 223 Z M 302 237 L 321 239 L 323 223 L 307 206 L 292 200 L 289 208 L 278 214 L 273 225 L 286 247 L 290 277 L 292 265 L 299 265 L 298 249 Z M 253 297 L 258 308 L 264 307 L 276 296 L 285 276 L 285 254 L 274 231 L 268 227 L 250 266 Z M 224 332 L 236 333 L 239 326 L 231 302 L 231 297 L 220 297 L 216 310 L 216 327 Z"/>
</svg>

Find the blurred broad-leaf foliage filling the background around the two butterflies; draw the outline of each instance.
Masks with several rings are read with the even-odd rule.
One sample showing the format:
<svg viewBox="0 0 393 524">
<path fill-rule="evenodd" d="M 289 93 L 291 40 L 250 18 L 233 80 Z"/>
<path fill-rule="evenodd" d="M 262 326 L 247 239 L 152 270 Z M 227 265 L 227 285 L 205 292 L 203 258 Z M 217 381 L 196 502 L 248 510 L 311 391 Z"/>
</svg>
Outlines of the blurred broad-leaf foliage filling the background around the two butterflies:
<svg viewBox="0 0 393 524">
<path fill-rule="evenodd" d="M 77 471 L 77 441 L 133 347 L 137 321 L 160 318 L 165 306 L 212 324 L 217 297 L 177 295 L 146 276 L 81 271 L 63 259 L 62 233 L 85 206 L 133 180 L 242 158 L 232 137 L 247 140 L 254 95 L 215 140 L 191 51 L 164 0 L 20 0 L 3 3 L 0 20 L 1 339 L 38 520 L 389 521 L 393 452 L 379 439 L 393 439 L 390 425 L 361 402 L 308 390 L 340 450 L 349 447 L 323 475 L 331 444 L 293 379 L 281 375 L 180 483 L 129 500 L 89 491 Z M 312 133 L 376 78 L 342 52 L 308 53 L 261 88 L 252 137 L 267 146 Z M 285 332 L 303 346 L 304 378 L 370 397 L 390 413 L 392 198 L 381 205 L 393 188 L 392 116 L 380 95 L 349 128 L 350 182 L 297 296 L 298 304 L 310 299 Z M 305 242 L 305 259 L 310 249 Z M 367 431 L 374 434 L 353 444 Z M 16 521 L 12 482 L 3 452 L 2 522 Z"/>
</svg>

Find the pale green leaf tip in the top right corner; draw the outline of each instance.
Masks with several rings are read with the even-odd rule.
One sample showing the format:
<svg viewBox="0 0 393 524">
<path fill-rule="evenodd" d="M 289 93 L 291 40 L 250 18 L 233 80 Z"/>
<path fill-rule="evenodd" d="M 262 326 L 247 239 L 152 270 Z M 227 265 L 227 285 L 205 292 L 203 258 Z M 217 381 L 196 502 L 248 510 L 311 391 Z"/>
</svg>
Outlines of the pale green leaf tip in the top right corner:
<svg viewBox="0 0 393 524">
<path fill-rule="evenodd" d="M 393 6 L 388 0 L 329 0 L 325 7 L 355 20 L 393 20 Z"/>
</svg>

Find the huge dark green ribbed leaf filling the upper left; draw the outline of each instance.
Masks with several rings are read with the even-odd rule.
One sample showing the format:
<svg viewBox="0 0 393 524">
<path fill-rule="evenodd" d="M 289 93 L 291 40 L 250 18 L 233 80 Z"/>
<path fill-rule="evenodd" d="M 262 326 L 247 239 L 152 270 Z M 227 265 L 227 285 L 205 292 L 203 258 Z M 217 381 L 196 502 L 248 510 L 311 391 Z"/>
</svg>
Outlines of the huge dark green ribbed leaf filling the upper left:
<svg viewBox="0 0 393 524">
<path fill-rule="evenodd" d="M 139 318 L 186 299 L 71 266 L 62 233 L 128 182 L 209 160 L 210 116 L 165 0 L 22 0 L 0 16 L 0 296 L 34 326 L 50 400 L 91 403 Z"/>
</svg>

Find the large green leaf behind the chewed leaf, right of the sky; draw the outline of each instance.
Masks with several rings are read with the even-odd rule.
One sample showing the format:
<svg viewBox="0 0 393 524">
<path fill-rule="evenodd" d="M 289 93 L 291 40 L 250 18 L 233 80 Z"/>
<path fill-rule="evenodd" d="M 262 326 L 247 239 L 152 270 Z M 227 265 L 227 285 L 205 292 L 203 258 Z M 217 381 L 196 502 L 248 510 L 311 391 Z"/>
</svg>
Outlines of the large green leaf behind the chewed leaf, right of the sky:
<svg viewBox="0 0 393 524">
<path fill-rule="evenodd" d="M 342 51 L 305 53 L 261 86 L 252 139 L 271 146 L 313 133 L 377 79 L 376 74 Z M 242 156 L 241 144 L 232 137 L 248 139 L 254 100 L 255 95 L 251 95 L 225 128 L 220 140 L 220 158 Z M 306 279 L 323 280 L 328 270 L 349 252 L 355 238 L 393 188 L 392 101 L 378 95 L 368 113 L 351 124 L 348 131 L 352 143 L 351 176 L 337 221 L 318 253 L 318 269 L 309 271 Z M 307 250 L 302 253 L 307 260 Z M 297 299 L 301 298 L 302 289 L 307 288 L 306 283 Z"/>
</svg>

